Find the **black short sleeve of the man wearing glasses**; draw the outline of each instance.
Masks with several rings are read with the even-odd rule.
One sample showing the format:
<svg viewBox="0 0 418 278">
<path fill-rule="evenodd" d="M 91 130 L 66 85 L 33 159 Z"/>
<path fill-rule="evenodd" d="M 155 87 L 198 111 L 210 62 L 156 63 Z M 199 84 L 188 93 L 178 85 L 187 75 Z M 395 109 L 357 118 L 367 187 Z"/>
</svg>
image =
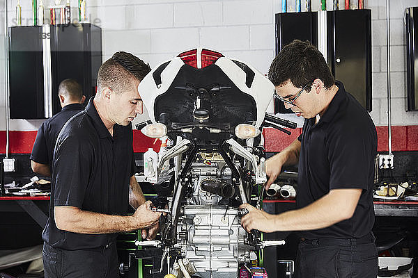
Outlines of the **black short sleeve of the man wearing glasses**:
<svg viewBox="0 0 418 278">
<path fill-rule="evenodd" d="M 330 162 L 330 189 L 369 186 L 373 139 L 367 131 L 345 128 L 334 130 L 327 138 Z"/>
</svg>

